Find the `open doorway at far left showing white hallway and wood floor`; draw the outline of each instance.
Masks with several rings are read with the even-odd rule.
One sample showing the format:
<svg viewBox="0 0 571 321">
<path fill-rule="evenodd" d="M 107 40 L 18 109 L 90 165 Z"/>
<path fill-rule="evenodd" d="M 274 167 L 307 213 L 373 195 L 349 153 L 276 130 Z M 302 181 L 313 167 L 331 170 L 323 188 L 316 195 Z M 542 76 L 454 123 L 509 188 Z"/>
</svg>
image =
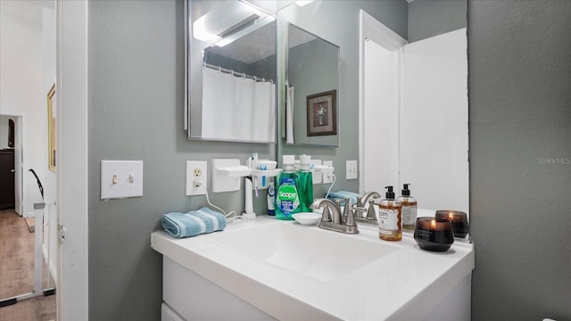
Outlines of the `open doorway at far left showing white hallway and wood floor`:
<svg viewBox="0 0 571 321">
<path fill-rule="evenodd" d="M 0 13 L 0 29 L 3 30 L 0 38 L 0 108 L 3 115 L 0 119 L 2 124 L 4 119 L 8 124 L 6 134 L 3 132 L 0 137 L 10 138 L 10 128 L 13 128 L 13 141 L 7 140 L 8 144 L 13 144 L 8 148 L 13 155 L 13 190 L 9 190 L 13 191 L 14 198 L 13 209 L 1 213 L 3 253 L 0 281 L 12 283 L 2 286 L 3 290 L 12 291 L 0 295 L 0 319 L 13 320 L 19 319 L 16 316 L 24 316 L 22 319 L 32 320 L 35 318 L 28 314 L 30 311 L 24 311 L 30 307 L 35 310 L 35 304 L 29 303 L 28 299 L 34 297 L 36 300 L 37 295 L 44 295 L 42 277 L 47 276 L 54 285 L 54 280 L 46 272 L 50 268 L 55 270 L 54 263 L 57 262 L 52 249 L 51 262 L 45 263 L 50 252 L 49 244 L 55 243 L 50 242 L 49 236 L 55 234 L 47 233 L 52 227 L 46 225 L 49 219 L 37 217 L 35 204 L 43 202 L 43 198 L 36 177 L 29 172 L 29 169 L 35 169 L 46 191 L 52 193 L 46 195 L 46 200 L 54 202 L 55 174 L 47 168 L 48 90 L 44 87 L 53 85 L 55 80 L 55 1 L 2 1 Z M 3 149 L 4 139 L 0 139 L 0 143 L 0 149 Z M 0 192 L 5 194 L 4 188 Z M 8 226 L 10 228 L 4 228 Z M 17 286 L 13 282 L 17 282 Z M 20 301 L 19 304 L 12 304 L 14 300 Z M 12 313 L 12 308 L 23 314 Z M 6 313 L 10 317 L 5 317 Z"/>
</svg>

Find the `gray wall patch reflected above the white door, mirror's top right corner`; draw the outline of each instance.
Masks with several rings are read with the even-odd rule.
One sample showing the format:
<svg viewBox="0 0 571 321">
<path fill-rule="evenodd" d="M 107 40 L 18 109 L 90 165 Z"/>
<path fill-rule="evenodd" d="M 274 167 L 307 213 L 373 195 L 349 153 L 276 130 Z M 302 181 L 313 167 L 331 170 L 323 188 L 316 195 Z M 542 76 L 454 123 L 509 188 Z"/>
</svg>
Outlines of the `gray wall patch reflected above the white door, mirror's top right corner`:
<svg viewBox="0 0 571 321">
<path fill-rule="evenodd" d="M 409 4 L 409 42 L 466 27 L 467 0 L 416 0 Z"/>
</svg>

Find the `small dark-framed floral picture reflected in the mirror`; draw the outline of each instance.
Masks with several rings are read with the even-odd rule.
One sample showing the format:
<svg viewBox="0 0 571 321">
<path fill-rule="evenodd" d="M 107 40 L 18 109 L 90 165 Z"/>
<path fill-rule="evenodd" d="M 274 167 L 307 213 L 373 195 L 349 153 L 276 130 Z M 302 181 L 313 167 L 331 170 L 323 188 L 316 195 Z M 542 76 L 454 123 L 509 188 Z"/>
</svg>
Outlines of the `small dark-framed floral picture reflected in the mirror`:
<svg viewBox="0 0 571 321">
<path fill-rule="evenodd" d="M 337 135 L 337 91 L 307 96 L 307 136 Z"/>
</svg>

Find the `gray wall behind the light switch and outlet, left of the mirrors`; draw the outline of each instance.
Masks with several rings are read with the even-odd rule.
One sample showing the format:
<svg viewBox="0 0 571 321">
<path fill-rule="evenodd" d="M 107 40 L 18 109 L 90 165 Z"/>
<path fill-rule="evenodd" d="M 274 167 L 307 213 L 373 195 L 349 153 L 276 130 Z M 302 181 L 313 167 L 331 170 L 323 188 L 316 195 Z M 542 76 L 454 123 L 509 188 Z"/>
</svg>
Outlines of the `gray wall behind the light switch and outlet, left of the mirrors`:
<svg viewBox="0 0 571 321">
<path fill-rule="evenodd" d="M 88 5 L 89 319 L 159 320 L 161 255 L 150 235 L 162 213 L 206 204 L 185 196 L 186 160 L 209 161 L 211 171 L 212 158 L 273 159 L 275 146 L 186 139 L 182 2 Z M 144 196 L 101 201 L 102 160 L 144 161 Z M 211 201 L 243 211 L 244 189 Z M 254 209 L 265 203 L 261 193 Z"/>
</svg>

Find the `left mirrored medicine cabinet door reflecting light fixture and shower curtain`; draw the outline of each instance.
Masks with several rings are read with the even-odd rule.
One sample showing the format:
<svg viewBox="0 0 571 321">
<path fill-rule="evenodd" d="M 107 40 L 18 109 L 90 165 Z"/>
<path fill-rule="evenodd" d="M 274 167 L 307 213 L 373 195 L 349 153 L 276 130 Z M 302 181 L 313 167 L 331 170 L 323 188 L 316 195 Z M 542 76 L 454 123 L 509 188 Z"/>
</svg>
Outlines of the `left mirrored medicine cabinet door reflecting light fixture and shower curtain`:
<svg viewBox="0 0 571 321">
<path fill-rule="evenodd" d="M 186 3 L 190 139 L 276 143 L 276 19 L 243 1 Z"/>
</svg>

